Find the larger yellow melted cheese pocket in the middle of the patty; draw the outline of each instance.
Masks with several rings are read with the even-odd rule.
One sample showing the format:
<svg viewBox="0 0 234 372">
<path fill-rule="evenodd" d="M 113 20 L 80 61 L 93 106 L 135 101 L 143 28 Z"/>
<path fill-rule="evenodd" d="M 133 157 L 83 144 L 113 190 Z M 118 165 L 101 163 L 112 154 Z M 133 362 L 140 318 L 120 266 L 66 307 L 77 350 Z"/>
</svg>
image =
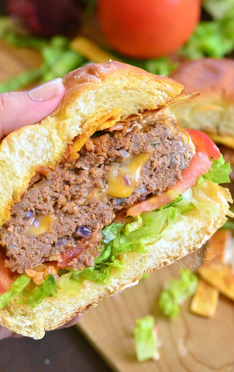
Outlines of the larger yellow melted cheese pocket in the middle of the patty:
<svg viewBox="0 0 234 372">
<path fill-rule="evenodd" d="M 140 184 L 141 171 L 151 154 L 144 153 L 130 160 L 128 164 L 110 167 L 107 171 L 106 193 L 116 198 L 127 198 Z"/>
</svg>

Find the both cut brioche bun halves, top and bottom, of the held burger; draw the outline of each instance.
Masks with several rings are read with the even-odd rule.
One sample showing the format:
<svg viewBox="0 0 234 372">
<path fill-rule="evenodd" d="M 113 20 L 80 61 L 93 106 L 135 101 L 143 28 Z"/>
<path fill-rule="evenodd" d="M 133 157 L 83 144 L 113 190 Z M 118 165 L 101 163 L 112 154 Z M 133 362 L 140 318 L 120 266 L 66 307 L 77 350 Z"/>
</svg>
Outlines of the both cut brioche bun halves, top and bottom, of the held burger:
<svg viewBox="0 0 234 372">
<path fill-rule="evenodd" d="M 64 84 L 65 97 L 51 116 L 40 124 L 13 132 L 0 146 L 0 225 L 9 220 L 11 207 L 27 188 L 36 166 L 55 166 L 77 136 L 76 149 L 98 128 L 167 106 L 183 87 L 169 78 L 119 62 L 86 65 L 69 73 Z M 171 225 L 170 234 L 148 245 L 146 253 L 121 254 L 124 269 L 116 277 L 113 268 L 108 284 L 84 280 L 77 294 L 47 297 L 36 308 L 10 301 L 0 310 L 0 323 L 16 333 L 40 339 L 45 330 L 55 329 L 95 307 L 103 296 L 136 284 L 143 273 L 201 247 L 225 223 L 226 215 L 231 214 L 228 209 L 231 196 L 227 189 L 209 181 L 192 189 L 197 201 L 212 203 L 217 208 L 215 217 L 204 222 L 195 208 Z"/>
</svg>

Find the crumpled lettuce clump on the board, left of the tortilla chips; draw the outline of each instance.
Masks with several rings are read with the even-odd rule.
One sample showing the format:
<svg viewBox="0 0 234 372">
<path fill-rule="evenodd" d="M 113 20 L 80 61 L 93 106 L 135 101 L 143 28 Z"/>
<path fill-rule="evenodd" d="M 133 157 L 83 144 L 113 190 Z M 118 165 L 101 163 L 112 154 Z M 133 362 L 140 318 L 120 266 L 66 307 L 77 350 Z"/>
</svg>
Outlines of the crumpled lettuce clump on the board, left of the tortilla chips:
<svg viewBox="0 0 234 372">
<path fill-rule="evenodd" d="M 192 296 L 198 285 L 198 278 L 190 270 L 180 270 L 180 279 L 171 279 L 159 295 L 159 308 L 164 315 L 176 318 L 183 301 Z"/>
</svg>

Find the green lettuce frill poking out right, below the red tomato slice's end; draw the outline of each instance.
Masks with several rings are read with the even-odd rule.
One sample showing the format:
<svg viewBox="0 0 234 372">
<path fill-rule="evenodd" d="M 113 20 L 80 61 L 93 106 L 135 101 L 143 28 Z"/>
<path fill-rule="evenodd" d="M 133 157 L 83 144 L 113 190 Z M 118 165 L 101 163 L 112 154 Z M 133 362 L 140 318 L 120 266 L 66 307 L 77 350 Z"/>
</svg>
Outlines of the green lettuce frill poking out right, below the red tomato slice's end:
<svg viewBox="0 0 234 372">
<path fill-rule="evenodd" d="M 229 174 L 231 173 L 230 163 L 225 163 L 221 154 L 218 160 L 213 160 L 211 169 L 206 174 L 198 178 L 197 186 L 201 185 L 204 180 L 209 180 L 213 183 L 229 183 Z"/>
</svg>

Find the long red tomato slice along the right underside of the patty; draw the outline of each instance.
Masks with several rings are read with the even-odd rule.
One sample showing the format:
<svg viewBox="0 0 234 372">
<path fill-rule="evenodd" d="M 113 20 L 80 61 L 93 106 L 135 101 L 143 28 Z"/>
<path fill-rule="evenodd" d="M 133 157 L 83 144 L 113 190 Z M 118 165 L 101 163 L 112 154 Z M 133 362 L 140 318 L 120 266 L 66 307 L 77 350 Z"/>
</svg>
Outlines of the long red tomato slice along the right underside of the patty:
<svg viewBox="0 0 234 372">
<path fill-rule="evenodd" d="M 151 212 L 164 204 L 173 202 L 179 194 L 183 194 L 189 187 L 194 186 L 198 177 L 208 172 L 212 166 L 211 157 L 215 160 L 220 158 L 220 150 L 205 133 L 192 129 L 185 130 L 191 137 L 196 153 L 188 168 L 182 172 L 181 179 L 161 195 L 151 196 L 143 202 L 133 205 L 127 209 L 127 215 L 136 217 L 142 212 Z"/>
</svg>

